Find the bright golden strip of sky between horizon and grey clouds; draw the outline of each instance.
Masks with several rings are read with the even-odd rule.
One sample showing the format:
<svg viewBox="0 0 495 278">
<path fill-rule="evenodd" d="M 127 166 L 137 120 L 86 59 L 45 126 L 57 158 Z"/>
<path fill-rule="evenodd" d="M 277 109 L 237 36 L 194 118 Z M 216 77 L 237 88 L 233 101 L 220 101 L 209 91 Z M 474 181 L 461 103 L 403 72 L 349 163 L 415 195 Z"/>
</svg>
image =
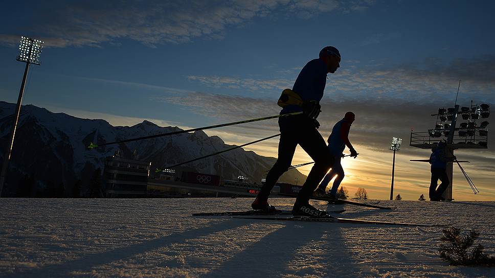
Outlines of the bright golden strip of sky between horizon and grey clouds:
<svg viewBox="0 0 495 278">
<path fill-rule="evenodd" d="M 271 146 L 249 146 L 251 148 L 244 148 L 246 150 L 252 150 L 263 156 L 276 157 L 277 148 Z M 407 148 L 409 146 L 403 146 Z M 390 199 L 390 187 L 392 179 L 392 156 L 393 152 L 386 150 L 377 152 L 375 150 L 369 150 L 365 146 L 355 145 L 356 150 L 359 152 L 357 158 L 344 157 L 341 160 L 342 167 L 344 168 L 345 177 L 340 186 L 345 187 L 349 191 L 349 197 L 353 198 L 354 193 L 358 188 L 366 189 L 368 197 L 370 199 Z M 345 150 L 344 154 L 349 150 Z M 425 150 L 424 155 L 421 157 L 412 157 L 409 155 L 402 155 L 400 151 L 396 152 L 395 156 L 395 176 L 394 176 L 394 194 L 397 196 L 400 194 L 403 200 L 418 200 L 421 194 L 428 200 L 428 191 L 430 187 L 430 164 L 413 162 L 409 159 L 427 159 L 430 157 L 430 151 Z M 292 159 L 292 165 L 303 164 L 311 161 L 312 159 L 298 146 L 294 159 Z M 308 175 L 312 165 L 302 166 L 297 168 L 299 172 L 304 175 Z M 466 166 L 466 172 L 470 174 L 471 178 L 475 182 L 476 186 L 480 190 L 480 193 L 475 195 L 470 190 L 466 179 L 461 174 L 456 165 L 454 165 L 454 189 L 453 198 L 455 200 L 477 200 L 477 201 L 492 201 L 495 200 L 495 188 L 487 187 L 482 183 L 479 178 L 474 178 L 476 175 L 476 169 L 471 166 Z M 468 169 L 472 168 L 472 169 Z M 490 177 L 484 177 L 483 179 L 493 179 L 495 173 Z M 478 182 L 477 182 L 478 181 Z M 328 183 L 327 190 L 331 188 L 333 180 Z"/>
</svg>

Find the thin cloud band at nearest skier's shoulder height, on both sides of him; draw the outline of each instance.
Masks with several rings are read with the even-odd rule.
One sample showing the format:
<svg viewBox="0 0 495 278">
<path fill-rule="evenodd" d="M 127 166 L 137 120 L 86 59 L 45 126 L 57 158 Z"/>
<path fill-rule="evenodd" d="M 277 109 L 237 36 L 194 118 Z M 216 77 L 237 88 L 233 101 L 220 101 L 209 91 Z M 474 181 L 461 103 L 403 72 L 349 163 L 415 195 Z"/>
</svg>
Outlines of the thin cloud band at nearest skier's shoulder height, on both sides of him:
<svg viewBox="0 0 495 278">
<path fill-rule="evenodd" d="M 495 55 L 452 60 L 427 58 L 421 62 L 395 65 L 350 62 L 351 66 L 343 65 L 338 72 L 328 75 L 326 99 L 367 99 L 370 96 L 380 100 L 442 102 L 446 105 L 455 100 L 457 85 L 462 79 L 461 105 L 469 105 L 471 99 L 480 103 L 495 100 Z M 267 79 L 192 75 L 187 78 L 213 88 L 262 91 L 278 97 L 282 89 L 291 87 L 294 76 L 293 72 L 287 72 L 282 77 Z"/>
</svg>

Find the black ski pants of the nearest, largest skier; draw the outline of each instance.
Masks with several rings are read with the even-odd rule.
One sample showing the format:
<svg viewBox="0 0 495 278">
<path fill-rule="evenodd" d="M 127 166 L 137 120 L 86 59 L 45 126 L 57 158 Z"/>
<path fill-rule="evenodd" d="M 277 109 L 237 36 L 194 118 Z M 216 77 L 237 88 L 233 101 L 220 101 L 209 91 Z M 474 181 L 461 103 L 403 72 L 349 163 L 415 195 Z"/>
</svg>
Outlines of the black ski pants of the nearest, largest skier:
<svg viewBox="0 0 495 278">
<path fill-rule="evenodd" d="M 267 200 L 270 191 L 280 176 L 287 171 L 299 144 L 313 159 L 314 165 L 299 192 L 296 203 L 307 203 L 322 180 L 323 176 L 333 165 L 333 155 L 328 150 L 325 140 L 314 127 L 312 120 L 305 115 L 279 118 L 280 142 L 278 159 L 266 176 L 265 184 L 258 194 L 260 200 Z"/>
</svg>

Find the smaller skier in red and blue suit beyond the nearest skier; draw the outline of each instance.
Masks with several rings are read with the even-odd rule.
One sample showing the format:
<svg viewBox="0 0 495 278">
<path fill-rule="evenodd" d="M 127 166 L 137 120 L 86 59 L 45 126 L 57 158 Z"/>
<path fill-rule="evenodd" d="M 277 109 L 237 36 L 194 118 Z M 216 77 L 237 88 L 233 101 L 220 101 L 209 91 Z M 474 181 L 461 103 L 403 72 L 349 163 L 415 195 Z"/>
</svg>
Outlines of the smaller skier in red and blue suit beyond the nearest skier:
<svg viewBox="0 0 495 278">
<path fill-rule="evenodd" d="M 344 149 L 347 146 L 351 151 L 351 156 L 354 156 L 354 158 L 356 158 L 358 154 L 349 141 L 349 131 L 355 119 L 356 115 L 353 112 L 347 112 L 344 119 L 333 126 L 332 133 L 328 137 L 328 149 L 333 155 L 334 163 L 332 165 L 332 170 L 323 178 L 320 186 L 314 192 L 315 194 L 324 196 L 326 194 L 328 182 L 336 175 L 337 177 L 333 181 L 332 189 L 329 192 L 330 198 L 336 199 L 337 190 L 344 179 L 344 169 L 341 165 Z"/>
</svg>

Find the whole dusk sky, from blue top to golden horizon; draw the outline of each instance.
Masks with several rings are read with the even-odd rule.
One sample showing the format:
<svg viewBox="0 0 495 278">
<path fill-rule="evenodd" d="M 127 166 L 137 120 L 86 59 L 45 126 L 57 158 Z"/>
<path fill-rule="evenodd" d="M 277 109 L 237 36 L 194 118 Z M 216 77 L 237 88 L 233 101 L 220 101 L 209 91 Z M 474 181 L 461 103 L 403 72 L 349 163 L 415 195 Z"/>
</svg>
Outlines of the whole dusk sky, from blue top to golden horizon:
<svg viewBox="0 0 495 278">
<path fill-rule="evenodd" d="M 349 138 L 360 153 L 343 159 L 342 185 L 388 199 L 396 136 L 394 195 L 417 200 L 428 197 L 430 165 L 409 159 L 431 151 L 409 146 L 411 128 L 434 127 L 430 114 L 454 106 L 459 79 L 459 105 L 494 103 L 494 12 L 491 1 L 10 1 L 0 11 L 0 99 L 17 100 L 24 35 L 45 48 L 23 104 L 112 125 L 247 120 L 278 114 L 281 91 L 333 45 L 342 62 L 328 75 L 319 130 L 326 139 L 353 111 Z M 237 145 L 278 132 L 276 120 L 206 131 Z M 480 193 L 455 165 L 454 199 L 495 200 L 493 137 L 488 149 L 456 151 Z M 245 149 L 276 157 L 277 145 Z M 292 165 L 308 161 L 298 147 Z"/>
</svg>

